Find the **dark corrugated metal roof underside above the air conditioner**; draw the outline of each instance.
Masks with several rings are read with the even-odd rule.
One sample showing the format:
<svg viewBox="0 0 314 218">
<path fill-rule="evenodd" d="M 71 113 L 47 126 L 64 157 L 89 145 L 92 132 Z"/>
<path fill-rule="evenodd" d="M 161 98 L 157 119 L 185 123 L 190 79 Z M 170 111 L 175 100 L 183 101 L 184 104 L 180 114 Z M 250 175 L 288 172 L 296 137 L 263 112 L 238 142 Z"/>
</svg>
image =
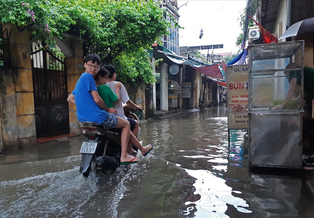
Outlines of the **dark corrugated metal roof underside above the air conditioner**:
<svg viewBox="0 0 314 218">
<path fill-rule="evenodd" d="M 273 33 L 279 4 L 279 0 L 262 0 L 261 25 L 270 33 Z"/>
</svg>

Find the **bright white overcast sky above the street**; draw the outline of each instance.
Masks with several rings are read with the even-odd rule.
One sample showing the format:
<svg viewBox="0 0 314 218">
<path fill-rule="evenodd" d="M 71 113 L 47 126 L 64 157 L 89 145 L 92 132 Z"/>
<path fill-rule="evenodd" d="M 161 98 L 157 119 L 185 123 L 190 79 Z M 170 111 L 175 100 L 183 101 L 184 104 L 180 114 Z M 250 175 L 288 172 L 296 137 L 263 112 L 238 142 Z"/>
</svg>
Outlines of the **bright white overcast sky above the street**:
<svg viewBox="0 0 314 218">
<path fill-rule="evenodd" d="M 180 47 L 223 44 L 224 48 L 214 49 L 214 54 L 238 51 L 236 38 L 241 33 L 238 18 L 246 0 L 178 0 L 178 7 L 179 25 L 184 27 L 179 30 Z M 201 28 L 203 37 L 199 39 Z M 207 54 L 207 50 L 201 53 Z"/>
</svg>

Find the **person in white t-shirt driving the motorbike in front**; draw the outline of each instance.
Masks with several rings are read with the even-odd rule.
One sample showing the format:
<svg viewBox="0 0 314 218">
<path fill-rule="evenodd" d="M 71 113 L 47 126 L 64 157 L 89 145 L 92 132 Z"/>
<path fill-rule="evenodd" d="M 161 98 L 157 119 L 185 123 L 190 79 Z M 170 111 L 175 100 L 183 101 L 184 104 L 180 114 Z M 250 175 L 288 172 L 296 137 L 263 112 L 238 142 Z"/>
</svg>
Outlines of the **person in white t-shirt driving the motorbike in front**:
<svg viewBox="0 0 314 218">
<path fill-rule="evenodd" d="M 117 83 L 116 82 L 116 68 L 112 65 L 106 65 L 105 68 L 106 70 L 109 71 L 109 76 L 108 76 L 106 85 L 109 86 L 114 93 L 116 93 L 116 83 Z M 119 117 L 122 117 L 123 119 L 128 120 L 130 122 L 131 131 L 133 132 L 134 136 L 137 136 L 139 123 L 137 120 L 126 117 L 124 115 L 122 103 L 127 104 L 131 109 L 135 109 L 135 110 L 140 109 L 140 106 L 134 104 L 130 100 L 127 94 L 127 90 L 125 89 L 123 84 L 122 84 L 122 87 L 120 88 L 120 100 L 118 104 L 113 104 L 113 108 L 116 109 Z M 129 146 L 127 147 L 127 152 L 129 154 L 137 154 L 137 152 L 132 148 L 131 143 L 129 143 Z"/>
</svg>

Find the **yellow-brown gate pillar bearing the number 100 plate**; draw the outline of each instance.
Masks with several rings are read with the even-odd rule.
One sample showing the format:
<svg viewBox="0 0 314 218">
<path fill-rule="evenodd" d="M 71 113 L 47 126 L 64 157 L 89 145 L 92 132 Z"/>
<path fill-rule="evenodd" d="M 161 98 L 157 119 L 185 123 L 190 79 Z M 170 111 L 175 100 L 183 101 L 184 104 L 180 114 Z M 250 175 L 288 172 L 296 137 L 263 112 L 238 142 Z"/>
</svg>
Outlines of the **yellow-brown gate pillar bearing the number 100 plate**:
<svg viewBox="0 0 314 218">
<path fill-rule="evenodd" d="M 84 72 L 83 42 L 77 39 L 65 39 L 65 42 L 73 51 L 72 57 L 64 58 L 67 68 L 68 95 L 69 95 L 74 90 L 76 82 Z M 77 119 L 76 106 L 71 103 L 69 103 L 69 122 L 70 133 L 78 134 L 80 132 L 79 128 L 81 128 L 82 125 Z"/>
</svg>

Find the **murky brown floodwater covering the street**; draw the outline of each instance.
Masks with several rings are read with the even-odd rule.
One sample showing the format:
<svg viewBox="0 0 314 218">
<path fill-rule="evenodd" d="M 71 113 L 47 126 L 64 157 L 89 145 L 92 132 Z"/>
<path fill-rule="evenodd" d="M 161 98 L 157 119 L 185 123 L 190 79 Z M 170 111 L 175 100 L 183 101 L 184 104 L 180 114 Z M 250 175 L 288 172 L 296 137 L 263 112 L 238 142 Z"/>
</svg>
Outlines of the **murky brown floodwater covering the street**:
<svg viewBox="0 0 314 218">
<path fill-rule="evenodd" d="M 0 217 L 313 217 L 309 175 L 250 170 L 246 132 L 228 147 L 225 107 L 143 123 L 140 138 L 154 149 L 138 164 L 89 178 L 82 136 L 6 152 Z"/>
</svg>

